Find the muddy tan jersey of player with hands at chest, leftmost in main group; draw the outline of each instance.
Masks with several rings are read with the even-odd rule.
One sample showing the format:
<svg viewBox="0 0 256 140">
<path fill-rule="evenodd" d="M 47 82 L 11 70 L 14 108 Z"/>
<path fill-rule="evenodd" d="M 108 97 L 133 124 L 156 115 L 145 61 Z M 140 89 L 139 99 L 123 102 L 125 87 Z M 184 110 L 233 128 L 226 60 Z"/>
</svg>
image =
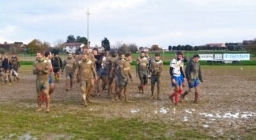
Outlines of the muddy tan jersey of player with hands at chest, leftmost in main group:
<svg viewBox="0 0 256 140">
<path fill-rule="evenodd" d="M 49 65 L 47 60 L 36 60 L 33 65 L 33 74 L 36 74 L 36 80 L 48 81 Z M 36 67 L 42 67 L 42 71 L 38 71 Z"/>
</svg>

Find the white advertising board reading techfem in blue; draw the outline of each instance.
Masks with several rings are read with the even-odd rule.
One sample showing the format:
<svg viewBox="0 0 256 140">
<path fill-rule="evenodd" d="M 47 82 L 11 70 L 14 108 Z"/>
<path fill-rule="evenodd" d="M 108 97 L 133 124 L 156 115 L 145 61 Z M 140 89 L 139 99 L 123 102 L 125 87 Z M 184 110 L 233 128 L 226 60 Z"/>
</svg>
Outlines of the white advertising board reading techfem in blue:
<svg viewBox="0 0 256 140">
<path fill-rule="evenodd" d="M 224 53 L 223 60 L 250 60 L 250 53 Z"/>
</svg>

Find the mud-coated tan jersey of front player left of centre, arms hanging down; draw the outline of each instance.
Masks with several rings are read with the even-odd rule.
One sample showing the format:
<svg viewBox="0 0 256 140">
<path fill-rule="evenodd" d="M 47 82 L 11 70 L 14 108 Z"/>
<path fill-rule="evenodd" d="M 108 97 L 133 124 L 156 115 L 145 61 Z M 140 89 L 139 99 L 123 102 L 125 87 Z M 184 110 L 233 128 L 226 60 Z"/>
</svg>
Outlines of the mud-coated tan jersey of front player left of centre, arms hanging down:
<svg viewBox="0 0 256 140">
<path fill-rule="evenodd" d="M 82 81 L 91 80 L 96 76 L 95 66 L 92 60 L 80 60 L 77 64 L 77 69 L 79 71 L 79 78 Z"/>
</svg>

